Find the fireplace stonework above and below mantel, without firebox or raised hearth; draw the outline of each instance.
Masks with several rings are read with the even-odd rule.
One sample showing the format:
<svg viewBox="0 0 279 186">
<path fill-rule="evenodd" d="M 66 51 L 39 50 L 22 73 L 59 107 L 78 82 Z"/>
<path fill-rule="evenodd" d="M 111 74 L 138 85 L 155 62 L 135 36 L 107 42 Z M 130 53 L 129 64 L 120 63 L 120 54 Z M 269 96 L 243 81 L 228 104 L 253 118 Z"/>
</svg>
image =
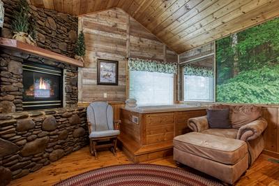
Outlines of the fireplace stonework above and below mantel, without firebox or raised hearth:
<svg viewBox="0 0 279 186">
<path fill-rule="evenodd" d="M 11 30 L 10 25 L 11 20 L 13 20 L 13 12 L 17 0 L 3 0 L 3 3 L 5 17 L 3 29 L 1 29 L 1 37 L 12 38 L 13 31 Z M 75 42 L 77 40 L 77 17 L 66 13 L 58 13 L 55 10 L 36 8 L 35 6 L 30 6 L 29 13 L 36 17 L 37 21 L 37 46 L 39 48 L 56 52 L 59 55 L 73 58 L 75 55 Z M 26 52 L 24 53 L 18 50 L 2 50 L 1 48 L 0 108 L 2 108 L 2 113 L 28 109 L 26 107 L 27 103 L 24 103 L 30 101 L 29 99 L 26 100 L 24 98 L 25 87 L 23 81 L 23 68 L 25 68 L 25 62 L 33 62 L 35 64 L 43 64 L 63 69 L 63 87 L 61 91 L 63 97 L 61 98 L 61 102 L 59 102 L 61 106 L 56 106 L 64 108 L 77 106 L 77 66 L 71 66 L 63 62 L 46 59 L 40 56 L 29 55 Z M 49 99 L 45 101 L 58 100 Z M 58 102 L 55 104 L 58 104 Z"/>
</svg>

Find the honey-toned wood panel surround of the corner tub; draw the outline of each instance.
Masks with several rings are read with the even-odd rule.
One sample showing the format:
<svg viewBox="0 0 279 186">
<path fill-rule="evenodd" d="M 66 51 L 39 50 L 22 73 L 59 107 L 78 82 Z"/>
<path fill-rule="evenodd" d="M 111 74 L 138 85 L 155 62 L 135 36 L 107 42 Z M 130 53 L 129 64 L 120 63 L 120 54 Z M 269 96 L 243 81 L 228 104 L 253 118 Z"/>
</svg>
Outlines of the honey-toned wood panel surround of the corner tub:
<svg viewBox="0 0 279 186">
<path fill-rule="evenodd" d="M 205 108 L 140 113 L 121 108 L 120 145 L 123 152 L 135 163 L 172 155 L 174 136 L 190 131 L 190 117 L 206 115 Z"/>
</svg>

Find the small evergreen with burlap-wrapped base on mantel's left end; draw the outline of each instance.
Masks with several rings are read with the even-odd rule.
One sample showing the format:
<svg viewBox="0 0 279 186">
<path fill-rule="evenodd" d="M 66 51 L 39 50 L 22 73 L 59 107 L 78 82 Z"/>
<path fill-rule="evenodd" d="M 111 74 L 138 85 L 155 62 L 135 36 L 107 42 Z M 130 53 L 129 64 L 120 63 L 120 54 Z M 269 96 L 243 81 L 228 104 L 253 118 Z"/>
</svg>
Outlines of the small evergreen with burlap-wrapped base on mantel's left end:
<svg viewBox="0 0 279 186">
<path fill-rule="evenodd" d="M 26 0 L 17 1 L 17 11 L 12 21 L 13 39 L 36 45 L 36 20 L 29 17 L 29 4 Z M 33 37 L 32 37 L 33 36 Z"/>
</svg>

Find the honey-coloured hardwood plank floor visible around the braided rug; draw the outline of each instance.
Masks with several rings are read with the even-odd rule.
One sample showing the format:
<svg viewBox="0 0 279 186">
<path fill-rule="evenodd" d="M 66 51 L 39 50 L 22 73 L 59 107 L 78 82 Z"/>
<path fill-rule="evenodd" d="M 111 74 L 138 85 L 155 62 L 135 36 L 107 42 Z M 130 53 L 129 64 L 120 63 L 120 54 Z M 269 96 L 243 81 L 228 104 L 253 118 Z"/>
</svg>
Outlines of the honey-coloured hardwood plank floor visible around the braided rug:
<svg viewBox="0 0 279 186">
<path fill-rule="evenodd" d="M 43 167 L 35 173 L 13 180 L 10 185 L 53 185 L 79 173 L 104 166 L 132 163 L 122 151 L 116 157 L 110 151 L 98 152 L 98 159 L 91 156 L 89 147 L 63 157 L 57 162 Z M 236 185 L 279 185 L 279 164 L 269 161 L 266 155 L 260 155 L 255 164 L 242 176 Z M 156 159 L 147 163 L 176 167 L 172 157 Z"/>
</svg>

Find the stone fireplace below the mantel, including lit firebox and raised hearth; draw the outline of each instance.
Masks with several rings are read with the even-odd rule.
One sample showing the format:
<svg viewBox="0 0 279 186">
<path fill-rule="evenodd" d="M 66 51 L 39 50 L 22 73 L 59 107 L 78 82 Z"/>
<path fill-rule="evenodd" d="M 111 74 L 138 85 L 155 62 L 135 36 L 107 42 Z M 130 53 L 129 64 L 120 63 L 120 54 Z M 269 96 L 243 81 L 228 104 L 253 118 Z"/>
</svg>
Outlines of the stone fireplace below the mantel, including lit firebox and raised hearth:
<svg viewBox="0 0 279 186">
<path fill-rule="evenodd" d="M 0 77 L 4 180 L 26 176 L 88 144 L 86 108 L 77 108 L 77 66 L 1 48 Z"/>
</svg>

